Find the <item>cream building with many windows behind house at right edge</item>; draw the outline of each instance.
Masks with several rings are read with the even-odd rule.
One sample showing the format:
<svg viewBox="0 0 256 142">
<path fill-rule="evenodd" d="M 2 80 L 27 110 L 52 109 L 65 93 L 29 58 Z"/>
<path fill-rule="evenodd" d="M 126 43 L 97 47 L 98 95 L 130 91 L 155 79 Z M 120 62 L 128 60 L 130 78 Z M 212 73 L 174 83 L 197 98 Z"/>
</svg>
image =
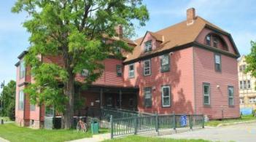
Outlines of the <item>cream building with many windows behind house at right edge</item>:
<svg viewBox="0 0 256 142">
<path fill-rule="evenodd" d="M 239 98 L 240 108 L 256 109 L 255 77 L 244 73 L 247 68 L 244 55 L 238 60 Z"/>
</svg>

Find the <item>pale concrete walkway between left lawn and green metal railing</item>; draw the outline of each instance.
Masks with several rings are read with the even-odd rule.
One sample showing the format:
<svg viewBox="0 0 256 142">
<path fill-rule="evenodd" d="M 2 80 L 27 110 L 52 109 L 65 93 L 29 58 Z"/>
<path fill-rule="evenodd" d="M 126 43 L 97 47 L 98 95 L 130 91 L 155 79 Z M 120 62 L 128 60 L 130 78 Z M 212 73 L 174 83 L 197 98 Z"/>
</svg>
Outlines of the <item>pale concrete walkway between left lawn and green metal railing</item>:
<svg viewBox="0 0 256 142">
<path fill-rule="evenodd" d="M 79 140 L 69 141 L 69 142 L 98 142 L 110 139 L 110 133 L 93 135 L 93 138 L 82 138 Z"/>
</svg>

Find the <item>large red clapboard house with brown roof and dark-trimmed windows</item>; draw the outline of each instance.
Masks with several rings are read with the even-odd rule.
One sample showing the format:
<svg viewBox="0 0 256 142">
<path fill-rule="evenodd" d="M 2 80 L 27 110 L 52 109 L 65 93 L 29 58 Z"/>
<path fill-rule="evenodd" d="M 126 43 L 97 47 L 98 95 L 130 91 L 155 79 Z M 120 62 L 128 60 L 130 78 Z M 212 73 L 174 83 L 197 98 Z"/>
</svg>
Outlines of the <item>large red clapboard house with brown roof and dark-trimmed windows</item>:
<svg viewBox="0 0 256 142">
<path fill-rule="evenodd" d="M 101 106 L 159 114 L 206 114 L 210 119 L 239 117 L 237 61 L 240 57 L 230 33 L 187 9 L 187 20 L 160 31 L 147 31 L 135 41 L 124 60 L 104 60 L 104 74 L 88 90 L 81 90 L 85 107 Z M 109 39 L 110 40 L 110 39 Z M 122 52 L 122 51 L 121 51 Z M 44 107 L 31 106 L 23 88 L 32 82 L 23 52 L 18 58 L 16 122 L 39 126 Z M 40 57 L 62 64 L 60 57 Z M 82 82 L 86 74 L 77 74 Z M 84 109 L 85 110 L 85 109 Z M 85 114 L 85 111 L 76 111 Z"/>
</svg>

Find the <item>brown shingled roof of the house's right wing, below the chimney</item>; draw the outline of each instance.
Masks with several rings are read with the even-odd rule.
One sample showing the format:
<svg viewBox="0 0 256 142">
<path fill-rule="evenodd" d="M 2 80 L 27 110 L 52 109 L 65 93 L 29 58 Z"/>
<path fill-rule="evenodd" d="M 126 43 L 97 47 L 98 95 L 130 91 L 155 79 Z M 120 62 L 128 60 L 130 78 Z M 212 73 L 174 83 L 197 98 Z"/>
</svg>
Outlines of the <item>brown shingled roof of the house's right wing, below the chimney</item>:
<svg viewBox="0 0 256 142">
<path fill-rule="evenodd" d="M 199 33 L 205 28 L 206 25 L 209 25 L 213 28 L 216 28 L 223 33 L 227 33 L 223 31 L 221 28 L 209 23 L 207 20 L 204 20 L 202 17 L 195 17 L 195 21 L 192 25 L 187 25 L 187 21 L 182 21 L 181 23 L 177 23 L 175 25 L 171 25 L 168 28 L 164 28 L 160 31 L 156 31 L 154 33 L 150 32 L 155 39 L 161 39 L 160 36 L 164 36 L 164 41 L 156 50 L 153 50 L 148 53 L 141 52 L 140 43 L 144 39 L 141 37 L 136 39 L 137 46 L 134 48 L 133 52 L 128 54 L 125 59 L 125 62 L 134 60 L 136 58 L 144 57 L 145 55 L 154 54 L 156 52 L 161 52 L 163 50 L 169 50 L 174 47 L 178 47 L 181 45 L 189 44 L 191 42 L 195 42 L 195 39 L 199 35 Z M 229 33 L 227 33 L 229 34 Z"/>
</svg>

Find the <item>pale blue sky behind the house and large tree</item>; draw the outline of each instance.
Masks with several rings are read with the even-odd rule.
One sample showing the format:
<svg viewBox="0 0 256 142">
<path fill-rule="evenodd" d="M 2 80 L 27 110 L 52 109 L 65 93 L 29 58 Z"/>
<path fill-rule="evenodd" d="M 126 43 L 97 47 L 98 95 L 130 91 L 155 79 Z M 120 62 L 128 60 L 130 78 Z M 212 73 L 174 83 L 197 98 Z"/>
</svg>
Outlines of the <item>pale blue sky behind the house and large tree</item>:
<svg viewBox="0 0 256 142">
<path fill-rule="evenodd" d="M 16 78 L 17 56 L 29 45 L 29 33 L 22 27 L 26 13 L 10 12 L 15 0 L 0 1 L 0 82 Z M 150 12 L 147 25 L 136 29 L 138 36 L 158 31 L 186 18 L 186 9 L 195 7 L 196 15 L 220 26 L 233 36 L 241 55 L 248 54 L 249 42 L 256 41 L 256 8 L 254 0 L 144 0 Z"/>
</svg>

